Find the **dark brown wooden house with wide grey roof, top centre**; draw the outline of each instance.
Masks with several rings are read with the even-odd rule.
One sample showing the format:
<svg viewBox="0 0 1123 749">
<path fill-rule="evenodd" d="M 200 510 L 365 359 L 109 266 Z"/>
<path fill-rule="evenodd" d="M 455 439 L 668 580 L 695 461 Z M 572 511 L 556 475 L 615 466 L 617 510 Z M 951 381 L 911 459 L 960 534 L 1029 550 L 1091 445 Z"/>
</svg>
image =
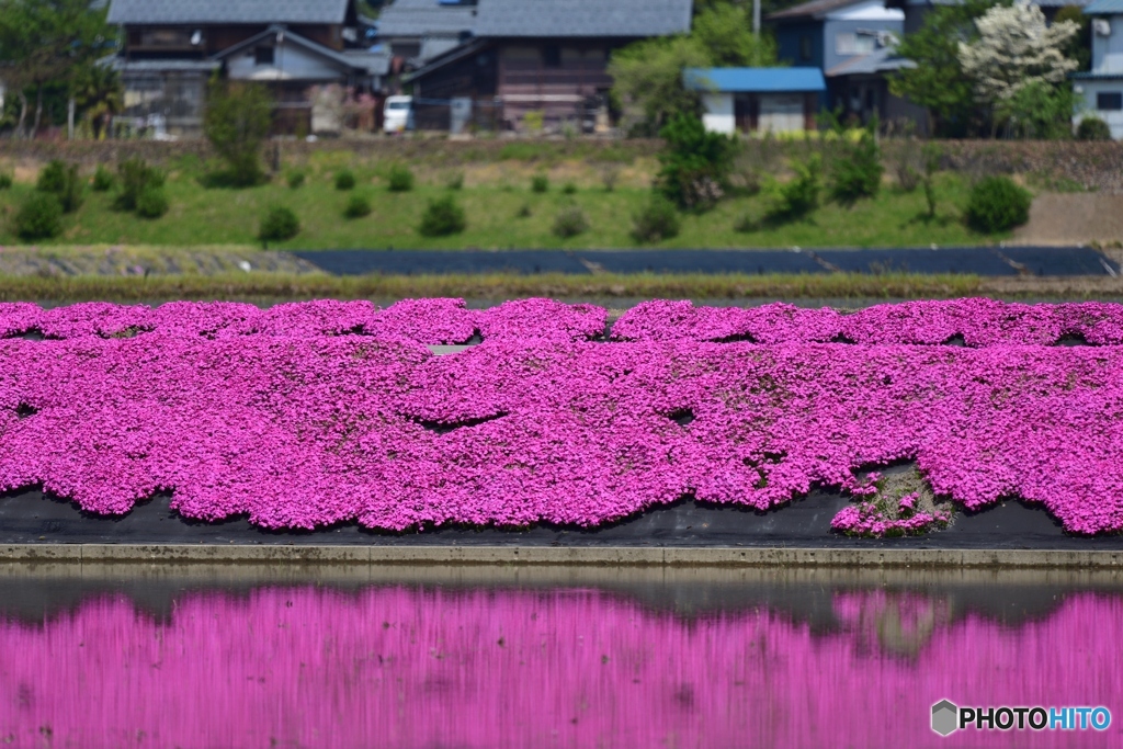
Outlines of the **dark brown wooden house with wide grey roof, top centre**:
<svg viewBox="0 0 1123 749">
<path fill-rule="evenodd" d="M 609 56 L 690 31 L 693 0 L 478 0 L 472 36 L 403 79 L 420 128 L 609 126 Z M 427 108 L 424 102 L 431 102 Z M 451 104 L 451 106 L 449 106 Z"/>
</svg>

